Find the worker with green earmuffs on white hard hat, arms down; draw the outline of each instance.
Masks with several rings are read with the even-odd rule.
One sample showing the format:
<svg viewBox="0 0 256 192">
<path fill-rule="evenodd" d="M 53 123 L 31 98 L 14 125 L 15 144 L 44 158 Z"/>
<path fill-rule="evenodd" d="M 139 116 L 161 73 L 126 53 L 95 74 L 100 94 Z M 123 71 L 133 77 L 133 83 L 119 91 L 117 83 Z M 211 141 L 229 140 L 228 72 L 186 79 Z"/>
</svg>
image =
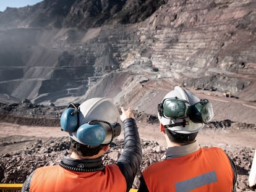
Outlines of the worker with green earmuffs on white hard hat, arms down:
<svg viewBox="0 0 256 192">
<path fill-rule="evenodd" d="M 158 119 L 168 148 L 164 160 L 150 165 L 140 177 L 141 191 L 236 191 L 236 166 L 221 148 L 200 148 L 195 140 L 213 118 L 207 99 L 175 86 L 160 104 Z"/>
</svg>

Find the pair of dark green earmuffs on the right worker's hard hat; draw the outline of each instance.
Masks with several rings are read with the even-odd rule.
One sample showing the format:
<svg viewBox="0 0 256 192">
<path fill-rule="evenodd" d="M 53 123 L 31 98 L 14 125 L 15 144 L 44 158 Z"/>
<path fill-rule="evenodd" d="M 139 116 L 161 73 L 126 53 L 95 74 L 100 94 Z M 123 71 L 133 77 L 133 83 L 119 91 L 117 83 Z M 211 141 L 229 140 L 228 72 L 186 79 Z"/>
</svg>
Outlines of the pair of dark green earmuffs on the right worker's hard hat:
<svg viewBox="0 0 256 192">
<path fill-rule="evenodd" d="M 213 117 L 213 107 L 207 99 L 201 99 L 193 106 L 179 98 L 167 98 L 158 104 L 161 117 L 167 119 L 185 119 L 189 117 L 194 123 L 206 123 Z"/>
</svg>

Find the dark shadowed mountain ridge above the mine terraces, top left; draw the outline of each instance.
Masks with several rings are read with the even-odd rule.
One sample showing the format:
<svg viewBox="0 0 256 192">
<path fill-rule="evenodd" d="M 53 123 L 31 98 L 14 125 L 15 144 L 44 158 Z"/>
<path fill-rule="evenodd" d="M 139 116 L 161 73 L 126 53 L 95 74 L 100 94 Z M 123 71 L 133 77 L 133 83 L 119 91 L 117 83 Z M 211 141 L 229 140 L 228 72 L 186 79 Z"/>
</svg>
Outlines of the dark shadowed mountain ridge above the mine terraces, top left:
<svg viewBox="0 0 256 192">
<path fill-rule="evenodd" d="M 45 0 L 35 6 L 0 12 L 0 28 L 94 28 L 147 19 L 164 0 Z"/>
</svg>

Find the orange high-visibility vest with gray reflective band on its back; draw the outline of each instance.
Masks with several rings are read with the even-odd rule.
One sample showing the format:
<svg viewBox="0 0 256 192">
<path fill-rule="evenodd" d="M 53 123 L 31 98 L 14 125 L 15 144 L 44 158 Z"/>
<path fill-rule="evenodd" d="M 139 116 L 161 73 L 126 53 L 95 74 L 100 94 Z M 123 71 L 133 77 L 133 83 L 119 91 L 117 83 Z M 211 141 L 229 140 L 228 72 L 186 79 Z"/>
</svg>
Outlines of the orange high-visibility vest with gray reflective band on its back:
<svg viewBox="0 0 256 192">
<path fill-rule="evenodd" d="M 220 148 L 201 148 L 189 155 L 150 165 L 142 173 L 148 191 L 233 191 L 234 172 Z"/>
</svg>

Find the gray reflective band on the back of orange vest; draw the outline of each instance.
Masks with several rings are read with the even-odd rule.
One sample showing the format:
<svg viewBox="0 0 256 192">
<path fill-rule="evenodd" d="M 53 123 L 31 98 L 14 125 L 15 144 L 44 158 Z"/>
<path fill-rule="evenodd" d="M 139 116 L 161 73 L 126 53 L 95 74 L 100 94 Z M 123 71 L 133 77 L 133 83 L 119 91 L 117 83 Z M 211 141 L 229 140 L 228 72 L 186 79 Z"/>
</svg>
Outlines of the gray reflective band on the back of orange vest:
<svg viewBox="0 0 256 192">
<path fill-rule="evenodd" d="M 194 190 L 200 186 L 210 183 L 218 182 L 216 172 L 208 172 L 203 175 L 199 175 L 189 180 L 175 183 L 176 192 L 187 192 Z"/>
</svg>

